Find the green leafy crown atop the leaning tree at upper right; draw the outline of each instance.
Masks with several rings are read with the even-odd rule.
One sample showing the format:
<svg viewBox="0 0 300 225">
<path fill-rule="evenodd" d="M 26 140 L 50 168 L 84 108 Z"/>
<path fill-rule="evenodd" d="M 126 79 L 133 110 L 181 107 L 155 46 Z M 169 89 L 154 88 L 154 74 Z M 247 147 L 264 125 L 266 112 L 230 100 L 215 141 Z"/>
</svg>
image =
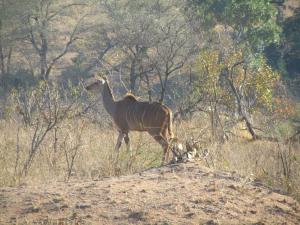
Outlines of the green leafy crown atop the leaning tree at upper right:
<svg viewBox="0 0 300 225">
<path fill-rule="evenodd" d="M 260 52 L 280 39 L 276 23 L 277 9 L 266 0 L 190 0 L 201 21 L 208 29 L 221 24 L 234 31 L 237 44 Z"/>
</svg>

